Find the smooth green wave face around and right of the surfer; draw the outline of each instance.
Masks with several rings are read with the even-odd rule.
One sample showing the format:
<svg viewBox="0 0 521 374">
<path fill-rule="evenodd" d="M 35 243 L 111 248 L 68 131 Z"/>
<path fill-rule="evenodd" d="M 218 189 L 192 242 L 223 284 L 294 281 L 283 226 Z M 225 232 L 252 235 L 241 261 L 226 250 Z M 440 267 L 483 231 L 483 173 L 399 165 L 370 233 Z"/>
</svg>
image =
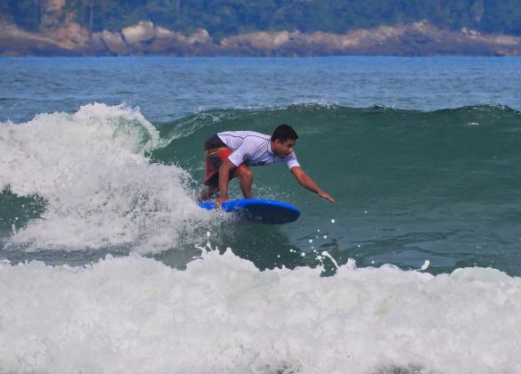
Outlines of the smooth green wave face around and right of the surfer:
<svg viewBox="0 0 521 374">
<path fill-rule="evenodd" d="M 284 166 L 256 167 L 255 197 L 286 200 L 301 208 L 302 217 L 280 231 L 239 225 L 225 234 L 229 245 L 262 253 L 275 240 L 308 253 L 335 250 L 340 262 L 353 256 L 358 264 L 407 268 L 429 259 L 435 271 L 477 264 L 518 273 L 517 110 L 296 105 L 207 111 L 159 124 L 164 138 L 176 138 L 152 158 L 190 171 L 197 189 L 204 177 L 202 144 L 209 135 L 246 128 L 271 134 L 281 123 L 296 127 L 297 158 L 337 203 L 302 189 Z M 240 198 L 237 183 L 232 186 L 232 197 Z"/>
</svg>

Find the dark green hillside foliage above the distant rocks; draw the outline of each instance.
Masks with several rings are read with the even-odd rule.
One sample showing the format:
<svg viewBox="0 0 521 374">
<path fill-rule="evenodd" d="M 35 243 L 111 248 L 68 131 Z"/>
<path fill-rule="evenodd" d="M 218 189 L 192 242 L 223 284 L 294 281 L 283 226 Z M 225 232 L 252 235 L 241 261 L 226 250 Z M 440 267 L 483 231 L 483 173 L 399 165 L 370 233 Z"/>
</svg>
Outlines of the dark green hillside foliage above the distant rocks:
<svg viewBox="0 0 521 374">
<path fill-rule="evenodd" d="M 2 0 L 0 20 L 41 28 L 45 0 Z M 427 20 L 438 28 L 521 35 L 521 0 L 67 0 L 66 12 L 93 31 L 139 20 L 213 37 L 256 30 L 345 33 Z M 45 9 L 44 9 L 45 12 Z"/>
</svg>

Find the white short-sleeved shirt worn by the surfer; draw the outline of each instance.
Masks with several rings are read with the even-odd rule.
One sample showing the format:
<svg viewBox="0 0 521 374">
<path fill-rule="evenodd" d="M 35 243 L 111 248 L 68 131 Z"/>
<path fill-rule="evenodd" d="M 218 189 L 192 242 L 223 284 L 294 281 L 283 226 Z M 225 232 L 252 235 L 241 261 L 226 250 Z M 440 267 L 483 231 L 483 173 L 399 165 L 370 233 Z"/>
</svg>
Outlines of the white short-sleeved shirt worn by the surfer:
<svg viewBox="0 0 521 374">
<path fill-rule="evenodd" d="M 273 153 L 270 146 L 270 135 L 254 131 L 226 131 L 217 134 L 217 136 L 228 148 L 233 150 L 228 159 L 236 167 L 240 167 L 243 163 L 248 165 L 248 167 L 257 167 L 276 162 L 283 162 L 289 169 L 291 167 L 300 167 L 295 152 L 289 153 L 284 159 Z"/>
</svg>

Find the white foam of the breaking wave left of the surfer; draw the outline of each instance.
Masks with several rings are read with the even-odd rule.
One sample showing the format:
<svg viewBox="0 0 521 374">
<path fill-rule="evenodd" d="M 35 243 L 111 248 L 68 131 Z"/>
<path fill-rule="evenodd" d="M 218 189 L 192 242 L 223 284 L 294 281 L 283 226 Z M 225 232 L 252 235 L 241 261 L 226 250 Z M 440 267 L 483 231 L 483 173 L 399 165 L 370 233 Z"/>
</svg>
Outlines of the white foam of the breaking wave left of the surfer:
<svg viewBox="0 0 521 374">
<path fill-rule="evenodd" d="M 76 113 L 42 114 L 0 126 L 0 187 L 38 194 L 45 214 L 15 227 L 11 244 L 80 250 L 171 248 L 180 232 L 208 216 L 191 199 L 189 178 L 153 165 L 158 131 L 138 109 L 90 104 Z"/>
</svg>

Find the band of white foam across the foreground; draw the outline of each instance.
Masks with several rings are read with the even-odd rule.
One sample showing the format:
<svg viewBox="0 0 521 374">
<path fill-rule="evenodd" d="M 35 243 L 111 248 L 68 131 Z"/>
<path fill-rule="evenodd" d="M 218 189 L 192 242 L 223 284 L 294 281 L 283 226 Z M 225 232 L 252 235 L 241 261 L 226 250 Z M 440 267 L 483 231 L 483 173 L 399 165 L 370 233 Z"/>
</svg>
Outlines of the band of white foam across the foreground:
<svg viewBox="0 0 521 374">
<path fill-rule="evenodd" d="M 521 372 L 521 280 L 483 268 L 258 271 L 216 252 L 0 264 L 1 372 Z"/>
</svg>

